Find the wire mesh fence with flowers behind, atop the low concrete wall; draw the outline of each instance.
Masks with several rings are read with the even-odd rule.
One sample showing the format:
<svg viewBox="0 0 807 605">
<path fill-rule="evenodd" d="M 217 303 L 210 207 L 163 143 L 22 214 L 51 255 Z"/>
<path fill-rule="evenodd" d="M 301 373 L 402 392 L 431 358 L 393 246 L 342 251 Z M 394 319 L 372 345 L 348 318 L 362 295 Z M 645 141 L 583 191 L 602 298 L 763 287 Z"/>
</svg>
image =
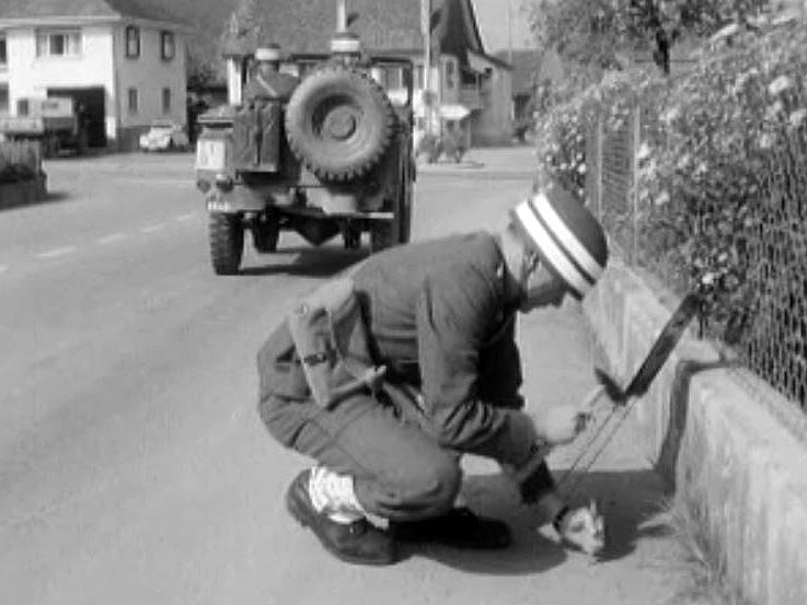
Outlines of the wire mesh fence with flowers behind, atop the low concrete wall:
<svg viewBox="0 0 807 605">
<path fill-rule="evenodd" d="M 586 190 L 625 259 L 700 290 L 706 334 L 807 411 L 807 72 L 743 73 L 715 91 L 735 98 L 684 118 L 659 114 L 662 96 L 615 123 L 595 112 Z"/>
</svg>

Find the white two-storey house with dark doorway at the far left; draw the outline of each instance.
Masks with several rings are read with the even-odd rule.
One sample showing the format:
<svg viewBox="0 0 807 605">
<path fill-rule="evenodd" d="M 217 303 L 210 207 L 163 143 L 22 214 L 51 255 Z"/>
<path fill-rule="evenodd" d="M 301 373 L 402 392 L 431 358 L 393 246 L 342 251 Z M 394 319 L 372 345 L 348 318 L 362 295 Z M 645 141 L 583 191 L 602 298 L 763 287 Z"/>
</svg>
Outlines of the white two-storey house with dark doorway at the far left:
<svg viewBox="0 0 807 605">
<path fill-rule="evenodd" d="M 0 112 L 70 96 L 92 147 L 131 149 L 154 119 L 185 124 L 185 37 L 159 0 L 0 2 Z"/>
</svg>

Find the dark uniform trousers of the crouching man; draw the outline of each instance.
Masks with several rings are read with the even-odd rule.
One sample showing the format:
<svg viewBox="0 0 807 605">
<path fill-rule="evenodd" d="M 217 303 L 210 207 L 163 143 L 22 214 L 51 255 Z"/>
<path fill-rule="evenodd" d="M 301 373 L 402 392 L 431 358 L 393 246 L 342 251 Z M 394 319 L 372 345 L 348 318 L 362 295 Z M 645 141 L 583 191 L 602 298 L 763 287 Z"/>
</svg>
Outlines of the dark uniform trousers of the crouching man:
<svg viewBox="0 0 807 605">
<path fill-rule="evenodd" d="M 447 512 L 460 490 L 460 454 L 440 447 L 417 392 L 387 382 L 325 409 L 310 397 L 284 323 L 258 353 L 258 411 L 281 444 L 354 477 L 359 503 L 390 521 Z"/>
</svg>

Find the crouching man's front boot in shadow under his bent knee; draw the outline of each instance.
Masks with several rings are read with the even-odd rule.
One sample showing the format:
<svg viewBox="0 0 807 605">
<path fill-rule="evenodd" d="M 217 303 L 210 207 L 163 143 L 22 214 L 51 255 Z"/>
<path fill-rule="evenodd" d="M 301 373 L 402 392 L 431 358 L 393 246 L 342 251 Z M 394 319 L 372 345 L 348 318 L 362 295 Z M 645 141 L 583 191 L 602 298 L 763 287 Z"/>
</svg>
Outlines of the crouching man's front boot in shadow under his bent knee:
<svg viewBox="0 0 807 605">
<path fill-rule="evenodd" d="M 424 521 L 390 523 L 396 539 L 406 543 L 436 543 L 456 548 L 495 550 L 512 543 L 506 523 L 477 516 L 465 507 Z"/>
</svg>

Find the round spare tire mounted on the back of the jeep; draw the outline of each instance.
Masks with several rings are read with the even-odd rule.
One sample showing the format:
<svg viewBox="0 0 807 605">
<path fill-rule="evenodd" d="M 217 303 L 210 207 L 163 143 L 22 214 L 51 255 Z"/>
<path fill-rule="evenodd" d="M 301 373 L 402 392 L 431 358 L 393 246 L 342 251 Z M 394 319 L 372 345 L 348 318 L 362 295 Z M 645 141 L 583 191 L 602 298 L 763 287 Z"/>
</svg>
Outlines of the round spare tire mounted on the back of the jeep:
<svg viewBox="0 0 807 605">
<path fill-rule="evenodd" d="M 367 174 L 390 144 L 395 120 L 383 89 L 342 67 L 309 74 L 286 107 L 286 136 L 297 158 L 324 181 Z"/>
</svg>

